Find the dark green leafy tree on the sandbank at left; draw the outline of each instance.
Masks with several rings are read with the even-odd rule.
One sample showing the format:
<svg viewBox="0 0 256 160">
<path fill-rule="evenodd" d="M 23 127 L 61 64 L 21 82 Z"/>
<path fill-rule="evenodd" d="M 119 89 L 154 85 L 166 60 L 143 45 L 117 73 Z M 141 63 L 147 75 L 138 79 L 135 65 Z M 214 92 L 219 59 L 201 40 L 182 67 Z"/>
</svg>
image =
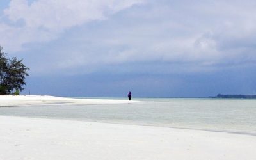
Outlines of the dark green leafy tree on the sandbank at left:
<svg viewBox="0 0 256 160">
<path fill-rule="evenodd" d="M 6 58 L 6 53 L 2 52 L 3 47 L 0 46 L 0 94 L 10 94 L 12 92 L 21 92 L 26 86 L 26 77 L 29 76 L 22 60 Z"/>
</svg>

